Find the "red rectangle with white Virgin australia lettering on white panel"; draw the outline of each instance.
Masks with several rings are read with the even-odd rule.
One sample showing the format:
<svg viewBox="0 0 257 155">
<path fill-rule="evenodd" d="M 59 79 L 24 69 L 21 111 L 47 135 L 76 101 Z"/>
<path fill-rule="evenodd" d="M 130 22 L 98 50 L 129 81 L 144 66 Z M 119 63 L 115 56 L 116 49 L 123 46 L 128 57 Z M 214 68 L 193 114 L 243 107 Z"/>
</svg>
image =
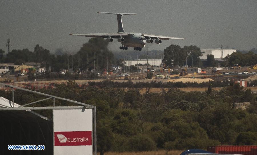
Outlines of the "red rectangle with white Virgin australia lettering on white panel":
<svg viewBox="0 0 257 155">
<path fill-rule="evenodd" d="M 55 146 L 92 145 L 92 131 L 55 132 Z"/>
</svg>

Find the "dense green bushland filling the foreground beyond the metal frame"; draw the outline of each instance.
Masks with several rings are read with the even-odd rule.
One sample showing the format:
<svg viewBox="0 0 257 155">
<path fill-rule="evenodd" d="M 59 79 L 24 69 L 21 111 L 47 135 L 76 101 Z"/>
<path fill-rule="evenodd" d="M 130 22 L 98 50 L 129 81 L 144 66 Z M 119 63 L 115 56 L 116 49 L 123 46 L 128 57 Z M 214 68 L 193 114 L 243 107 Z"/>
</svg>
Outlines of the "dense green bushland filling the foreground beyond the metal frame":
<svg viewBox="0 0 257 155">
<path fill-rule="evenodd" d="M 161 93 L 140 94 L 136 88 L 81 89 L 69 81 L 39 91 L 97 106 L 97 149 L 101 152 L 257 144 L 257 96 L 239 84 L 220 91 L 209 87 L 206 92 L 184 92 L 172 87 Z M 11 91 L 0 94 L 12 98 Z M 42 96 L 15 90 L 18 104 L 39 99 Z M 250 106 L 235 108 L 238 102 L 250 102 Z M 47 100 L 31 106 L 51 104 Z M 55 105 L 71 106 L 59 100 Z M 41 114 L 52 117 L 49 111 Z"/>
</svg>

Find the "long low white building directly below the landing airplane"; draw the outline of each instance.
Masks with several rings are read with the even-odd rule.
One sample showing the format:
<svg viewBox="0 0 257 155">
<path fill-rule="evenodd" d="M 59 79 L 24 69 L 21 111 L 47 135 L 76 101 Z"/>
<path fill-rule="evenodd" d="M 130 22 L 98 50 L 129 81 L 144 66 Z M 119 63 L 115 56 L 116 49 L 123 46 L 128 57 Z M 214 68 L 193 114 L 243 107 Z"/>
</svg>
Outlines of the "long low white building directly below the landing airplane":
<svg viewBox="0 0 257 155">
<path fill-rule="evenodd" d="M 162 63 L 162 59 L 148 59 L 148 64 L 151 66 L 160 66 Z M 136 64 L 147 64 L 147 59 L 137 59 L 137 60 L 130 60 L 125 61 L 124 65 L 131 66 Z"/>
</svg>

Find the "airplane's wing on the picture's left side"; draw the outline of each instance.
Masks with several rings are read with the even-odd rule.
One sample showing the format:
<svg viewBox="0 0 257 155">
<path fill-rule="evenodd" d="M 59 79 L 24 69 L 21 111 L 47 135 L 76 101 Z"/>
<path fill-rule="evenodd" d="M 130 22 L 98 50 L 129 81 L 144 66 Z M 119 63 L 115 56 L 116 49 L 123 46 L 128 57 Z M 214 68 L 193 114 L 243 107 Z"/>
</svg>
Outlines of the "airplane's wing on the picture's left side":
<svg viewBox="0 0 257 155">
<path fill-rule="evenodd" d="M 108 38 L 110 36 L 112 38 L 119 38 L 120 36 L 127 36 L 128 33 L 86 33 L 86 34 L 70 34 L 70 35 L 80 35 L 85 37 L 101 37 L 101 38 Z"/>
</svg>

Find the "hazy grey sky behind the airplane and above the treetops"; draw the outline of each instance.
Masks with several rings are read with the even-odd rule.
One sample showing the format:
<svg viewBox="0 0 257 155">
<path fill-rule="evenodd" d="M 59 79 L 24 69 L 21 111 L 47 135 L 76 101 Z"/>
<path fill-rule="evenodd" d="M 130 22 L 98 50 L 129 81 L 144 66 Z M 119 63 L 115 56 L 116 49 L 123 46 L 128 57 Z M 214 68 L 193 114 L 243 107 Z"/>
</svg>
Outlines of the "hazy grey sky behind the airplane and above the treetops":
<svg viewBox="0 0 257 155">
<path fill-rule="evenodd" d="M 257 47 L 257 1 L 0 1 L 0 49 L 7 52 L 6 41 L 12 49 L 36 44 L 49 49 L 78 51 L 89 38 L 69 33 L 117 32 L 116 15 L 102 12 L 137 13 L 124 15 L 125 32 L 141 32 L 186 40 L 147 44 L 149 50 L 163 50 L 171 44 L 196 45 L 200 48 Z M 121 44 L 115 39 L 109 44 L 113 51 Z M 146 50 L 144 48 L 144 50 Z M 130 48 L 132 49 L 132 48 Z M 129 50 L 128 50 L 129 51 Z"/>
</svg>

